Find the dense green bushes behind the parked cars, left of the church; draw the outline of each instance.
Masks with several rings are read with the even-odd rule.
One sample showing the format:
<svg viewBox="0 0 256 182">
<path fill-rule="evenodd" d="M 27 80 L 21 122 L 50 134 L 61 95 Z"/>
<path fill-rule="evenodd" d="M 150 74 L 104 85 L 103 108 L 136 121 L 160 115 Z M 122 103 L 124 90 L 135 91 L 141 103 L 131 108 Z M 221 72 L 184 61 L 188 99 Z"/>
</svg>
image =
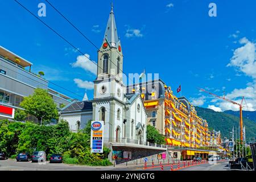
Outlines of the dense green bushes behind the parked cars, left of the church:
<svg viewBox="0 0 256 182">
<path fill-rule="evenodd" d="M 67 164 L 112 164 L 108 160 L 109 148 L 104 146 L 102 154 L 92 154 L 88 133 L 71 133 L 65 121 L 60 121 L 54 126 L 39 126 L 32 122 L 0 120 L 0 148 L 13 158 L 19 152 L 28 152 L 31 155 L 36 150 L 45 151 L 47 159 L 52 154 L 62 154 L 63 161 Z"/>
</svg>

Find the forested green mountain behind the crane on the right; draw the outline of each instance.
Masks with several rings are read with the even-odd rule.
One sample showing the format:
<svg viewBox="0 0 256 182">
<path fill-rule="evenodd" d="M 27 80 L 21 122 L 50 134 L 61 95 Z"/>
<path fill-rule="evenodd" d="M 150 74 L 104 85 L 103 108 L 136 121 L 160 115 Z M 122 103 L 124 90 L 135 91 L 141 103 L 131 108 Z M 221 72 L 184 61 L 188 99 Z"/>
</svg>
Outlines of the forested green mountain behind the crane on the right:
<svg viewBox="0 0 256 182">
<path fill-rule="evenodd" d="M 205 109 L 202 107 L 196 107 L 197 115 L 204 118 L 209 123 L 209 129 L 221 131 L 222 138 L 231 138 L 233 126 L 237 126 L 237 138 L 238 129 L 240 129 L 240 118 L 235 115 L 226 114 L 222 112 L 216 112 L 212 109 Z M 243 118 L 243 126 L 245 126 L 246 141 L 249 142 L 250 138 L 256 137 L 256 123 L 250 119 Z M 235 135 L 236 138 L 236 135 Z"/>
</svg>

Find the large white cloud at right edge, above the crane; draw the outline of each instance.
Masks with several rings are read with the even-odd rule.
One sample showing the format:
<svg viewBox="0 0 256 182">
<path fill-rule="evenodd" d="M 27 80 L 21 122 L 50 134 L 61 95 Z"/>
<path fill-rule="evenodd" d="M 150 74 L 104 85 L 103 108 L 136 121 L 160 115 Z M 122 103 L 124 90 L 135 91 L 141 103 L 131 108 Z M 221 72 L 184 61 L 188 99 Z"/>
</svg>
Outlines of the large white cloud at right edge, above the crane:
<svg viewBox="0 0 256 182">
<path fill-rule="evenodd" d="M 240 39 L 240 43 L 245 45 L 234 51 L 233 57 L 227 66 L 236 67 L 247 76 L 256 78 L 255 43 L 250 42 L 247 38 Z"/>
</svg>

